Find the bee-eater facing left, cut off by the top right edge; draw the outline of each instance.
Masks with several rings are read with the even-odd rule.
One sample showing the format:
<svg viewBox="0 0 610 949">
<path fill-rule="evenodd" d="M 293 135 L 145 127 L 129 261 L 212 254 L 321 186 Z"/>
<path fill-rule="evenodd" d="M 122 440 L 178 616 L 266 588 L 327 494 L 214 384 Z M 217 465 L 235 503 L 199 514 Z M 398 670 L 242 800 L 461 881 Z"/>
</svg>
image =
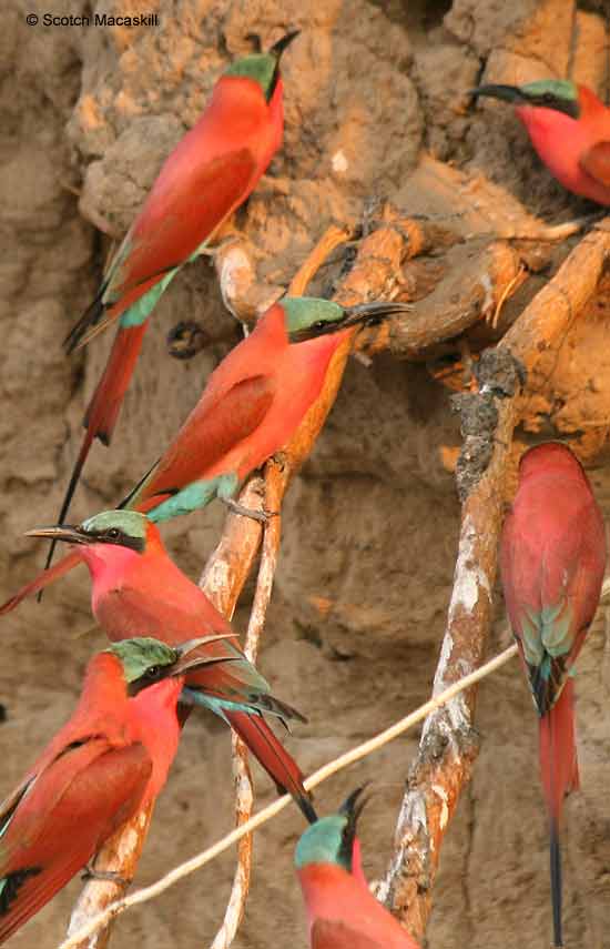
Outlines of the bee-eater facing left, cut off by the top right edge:
<svg viewBox="0 0 610 949">
<path fill-rule="evenodd" d="M 479 85 L 472 94 L 511 102 L 553 178 L 575 194 L 610 205 L 610 109 L 587 85 L 543 79 Z"/>
</svg>

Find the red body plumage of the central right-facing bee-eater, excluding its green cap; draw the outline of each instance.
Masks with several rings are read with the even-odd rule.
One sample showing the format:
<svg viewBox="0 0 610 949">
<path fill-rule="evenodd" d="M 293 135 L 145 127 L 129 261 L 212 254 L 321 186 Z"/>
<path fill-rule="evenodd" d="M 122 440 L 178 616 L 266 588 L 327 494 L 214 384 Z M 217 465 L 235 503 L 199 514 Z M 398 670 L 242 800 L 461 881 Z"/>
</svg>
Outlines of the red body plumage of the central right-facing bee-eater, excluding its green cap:
<svg viewBox="0 0 610 949">
<path fill-rule="evenodd" d="M 150 512 L 194 481 L 235 473 L 241 481 L 292 437 L 314 404 L 349 331 L 291 345 L 281 303 L 212 373 L 176 437 L 130 497 Z"/>
</svg>

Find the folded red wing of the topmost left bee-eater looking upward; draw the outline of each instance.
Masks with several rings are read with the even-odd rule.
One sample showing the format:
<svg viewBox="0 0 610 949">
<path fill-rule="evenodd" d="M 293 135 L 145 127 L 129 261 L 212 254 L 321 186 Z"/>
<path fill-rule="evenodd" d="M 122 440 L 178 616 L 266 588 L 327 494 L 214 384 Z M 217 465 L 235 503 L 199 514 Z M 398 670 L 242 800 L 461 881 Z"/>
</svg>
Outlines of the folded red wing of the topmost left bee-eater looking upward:
<svg viewBox="0 0 610 949">
<path fill-rule="evenodd" d="M 166 188 L 153 185 L 100 294 L 68 336 L 69 349 L 85 345 L 163 276 L 185 264 L 247 196 L 255 170 L 250 149 L 240 149 L 189 175 L 174 175 Z"/>
</svg>

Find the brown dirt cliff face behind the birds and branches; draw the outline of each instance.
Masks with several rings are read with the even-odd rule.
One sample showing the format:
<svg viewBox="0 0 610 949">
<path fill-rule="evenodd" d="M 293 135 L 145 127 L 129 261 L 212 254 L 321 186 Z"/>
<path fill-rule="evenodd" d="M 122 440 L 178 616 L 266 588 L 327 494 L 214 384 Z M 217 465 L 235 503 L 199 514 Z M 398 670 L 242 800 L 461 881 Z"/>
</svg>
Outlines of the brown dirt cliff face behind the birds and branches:
<svg viewBox="0 0 610 949">
<path fill-rule="evenodd" d="M 41 0 L 29 9 L 42 21 Z M 494 81 L 508 70 L 516 81 L 578 72 L 603 92 L 603 23 L 569 0 L 109 0 L 96 9 L 156 12 L 160 26 L 29 27 L 23 3 L 9 0 L 0 36 L 3 593 L 41 566 L 42 551 L 22 534 L 55 517 L 87 400 L 110 346 L 106 336 L 67 360 L 61 340 L 94 293 L 111 239 L 129 226 L 220 71 L 250 49 L 248 34 L 260 34 L 266 46 L 288 28 L 303 31 L 283 68 L 284 149 L 240 215 L 260 251 L 261 273 L 281 285 L 328 223 L 359 220 L 372 199 L 399 200 L 423 148 L 501 183 L 550 221 L 580 213 L 583 203 L 552 181 L 510 110 L 469 108 L 467 91 L 481 73 Z M 60 0 L 53 12 L 92 13 L 71 0 Z M 191 362 L 172 360 L 166 333 L 192 317 L 212 336 L 234 326 L 238 339 L 205 260 L 185 269 L 155 310 L 112 451 L 94 447 L 74 518 L 116 503 L 166 445 L 227 351 L 222 342 Z M 603 301 L 587 326 L 573 330 L 560 365 L 552 367 L 552 385 L 532 405 L 529 427 L 539 428 L 542 417 L 550 434 L 575 435 L 608 424 Z M 594 363 L 582 357 L 584 332 L 591 333 Z M 309 718 L 288 739 L 305 771 L 428 697 L 459 518 L 441 448 L 458 445 L 447 393 L 425 366 L 389 356 L 369 367 L 352 361 L 328 424 L 286 499 L 260 663 L 276 694 Z M 608 453 L 598 452 L 594 463 L 592 483 L 608 514 Z M 166 528 L 191 575 L 213 548 L 222 518 L 214 506 Z M 0 724 L 0 791 L 17 781 L 70 714 L 84 665 L 103 644 L 98 632 L 81 635 L 91 629 L 88 593 L 81 568 L 50 590 L 42 606 L 27 603 L 2 623 L 0 700 L 8 719 Z M 497 602 L 494 648 L 509 640 L 499 594 Z M 247 607 L 246 590 L 236 615 L 240 629 Z M 608 945 L 607 636 L 600 614 L 579 663 L 582 791 L 567 805 L 565 831 L 567 945 L 590 949 Z M 510 935 L 515 945 L 537 949 L 548 945 L 550 921 L 546 819 L 536 720 L 516 663 L 482 686 L 477 727 L 482 749 L 444 847 L 429 945 L 500 949 Z M 374 779 L 362 835 L 370 878 L 385 872 L 415 748 L 416 736 L 401 739 L 316 796 L 324 811 L 358 783 Z M 274 790 L 255 774 L 263 804 Z M 193 716 L 159 801 L 138 882 L 152 881 L 228 830 L 232 798 L 228 731 L 220 721 Z M 305 946 L 292 869 L 302 829 L 291 809 L 258 834 L 238 949 Z M 233 859 L 231 854 L 215 861 L 125 915 L 116 945 L 205 945 L 222 918 Z M 14 938 L 16 949 L 55 945 L 78 890 L 77 881 L 47 907 Z"/>
</svg>

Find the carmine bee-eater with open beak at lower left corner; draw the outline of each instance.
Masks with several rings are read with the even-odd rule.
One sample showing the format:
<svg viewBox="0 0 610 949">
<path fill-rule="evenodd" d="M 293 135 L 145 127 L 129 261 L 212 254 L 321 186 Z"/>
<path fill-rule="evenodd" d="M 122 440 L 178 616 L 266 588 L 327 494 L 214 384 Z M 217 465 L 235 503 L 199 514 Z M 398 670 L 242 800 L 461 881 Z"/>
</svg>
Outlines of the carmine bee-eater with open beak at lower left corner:
<svg viewBox="0 0 610 949">
<path fill-rule="evenodd" d="M 124 639 L 91 660 L 72 718 L 0 804 L 0 942 L 156 798 L 184 675 L 218 662 L 196 655 L 204 642 Z"/>
</svg>

